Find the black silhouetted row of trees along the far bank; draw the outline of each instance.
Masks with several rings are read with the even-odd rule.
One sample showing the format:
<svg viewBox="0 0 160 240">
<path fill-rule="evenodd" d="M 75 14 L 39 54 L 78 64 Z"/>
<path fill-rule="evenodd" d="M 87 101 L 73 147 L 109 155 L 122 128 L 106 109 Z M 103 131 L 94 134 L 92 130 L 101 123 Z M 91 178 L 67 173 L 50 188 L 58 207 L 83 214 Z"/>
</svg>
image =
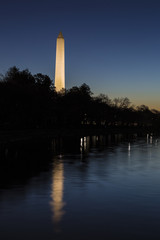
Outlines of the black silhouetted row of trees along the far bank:
<svg viewBox="0 0 160 240">
<path fill-rule="evenodd" d="M 128 98 L 94 97 L 86 84 L 59 93 L 51 79 L 16 67 L 0 80 L 0 129 L 158 128 L 160 112 Z"/>
</svg>

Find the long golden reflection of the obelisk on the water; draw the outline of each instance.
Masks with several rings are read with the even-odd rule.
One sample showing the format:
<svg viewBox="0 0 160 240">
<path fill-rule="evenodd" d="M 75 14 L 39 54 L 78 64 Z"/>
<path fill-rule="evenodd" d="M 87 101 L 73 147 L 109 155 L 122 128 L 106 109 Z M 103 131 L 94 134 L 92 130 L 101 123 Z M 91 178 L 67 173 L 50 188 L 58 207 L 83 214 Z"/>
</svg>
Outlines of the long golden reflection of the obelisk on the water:
<svg viewBox="0 0 160 240">
<path fill-rule="evenodd" d="M 63 163 L 55 161 L 53 165 L 53 183 L 52 183 L 52 193 L 51 193 L 51 206 L 53 211 L 53 221 L 58 224 L 63 215 Z"/>
</svg>

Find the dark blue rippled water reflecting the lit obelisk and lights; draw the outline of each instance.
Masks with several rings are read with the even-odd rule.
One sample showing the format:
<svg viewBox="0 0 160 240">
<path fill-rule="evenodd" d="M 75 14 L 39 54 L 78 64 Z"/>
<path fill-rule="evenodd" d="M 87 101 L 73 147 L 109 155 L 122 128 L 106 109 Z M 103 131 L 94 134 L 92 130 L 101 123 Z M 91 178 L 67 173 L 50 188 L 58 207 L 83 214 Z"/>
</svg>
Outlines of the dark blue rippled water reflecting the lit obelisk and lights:
<svg viewBox="0 0 160 240">
<path fill-rule="evenodd" d="M 160 138 L 1 146 L 0 239 L 160 239 Z"/>
</svg>

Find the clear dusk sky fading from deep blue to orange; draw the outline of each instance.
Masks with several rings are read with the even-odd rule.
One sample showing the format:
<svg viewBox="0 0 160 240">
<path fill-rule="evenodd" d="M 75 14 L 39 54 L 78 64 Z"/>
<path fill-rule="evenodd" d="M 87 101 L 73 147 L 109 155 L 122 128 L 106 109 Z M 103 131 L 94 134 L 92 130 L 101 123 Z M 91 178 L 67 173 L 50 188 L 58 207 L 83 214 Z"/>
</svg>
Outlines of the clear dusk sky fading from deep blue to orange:
<svg viewBox="0 0 160 240">
<path fill-rule="evenodd" d="M 56 38 L 66 87 L 160 109 L 159 0 L 1 0 L 0 73 L 16 65 L 54 79 Z"/>
</svg>

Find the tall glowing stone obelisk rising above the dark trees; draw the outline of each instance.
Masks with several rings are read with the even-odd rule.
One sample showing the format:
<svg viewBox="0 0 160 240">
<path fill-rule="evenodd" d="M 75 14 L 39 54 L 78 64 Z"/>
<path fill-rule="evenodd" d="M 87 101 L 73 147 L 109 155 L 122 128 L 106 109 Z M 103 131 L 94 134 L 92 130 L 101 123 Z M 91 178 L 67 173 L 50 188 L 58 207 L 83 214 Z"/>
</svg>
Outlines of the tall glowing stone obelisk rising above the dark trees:
<svg viewBox="0 0 160 240">
<path fill-rule="evenodd" d="M 59 33 L 56 46 L 55 87 L 56 91 L 65 88 L 65 47 L 62 32 Z"/>
</svg>

